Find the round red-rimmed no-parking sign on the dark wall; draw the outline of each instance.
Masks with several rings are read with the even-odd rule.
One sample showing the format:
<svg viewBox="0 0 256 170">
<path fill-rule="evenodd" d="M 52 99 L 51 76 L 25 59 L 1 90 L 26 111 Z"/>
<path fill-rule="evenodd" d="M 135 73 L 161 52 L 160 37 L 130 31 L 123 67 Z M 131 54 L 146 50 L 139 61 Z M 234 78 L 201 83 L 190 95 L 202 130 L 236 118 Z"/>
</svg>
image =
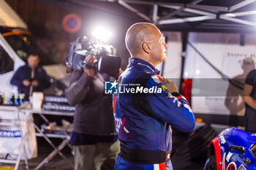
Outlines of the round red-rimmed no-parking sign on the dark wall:
<svg viewBox="0 0 256 170">
<path fill-rule="evenodd" d="M 82 24 L 81 18 L 74 13 L 69 13 L 62 20 L 62 26 L 64 30 L 67 31 L 68 33 L 77 32 L 80 29 L 81 24 Z"/>
</svg>

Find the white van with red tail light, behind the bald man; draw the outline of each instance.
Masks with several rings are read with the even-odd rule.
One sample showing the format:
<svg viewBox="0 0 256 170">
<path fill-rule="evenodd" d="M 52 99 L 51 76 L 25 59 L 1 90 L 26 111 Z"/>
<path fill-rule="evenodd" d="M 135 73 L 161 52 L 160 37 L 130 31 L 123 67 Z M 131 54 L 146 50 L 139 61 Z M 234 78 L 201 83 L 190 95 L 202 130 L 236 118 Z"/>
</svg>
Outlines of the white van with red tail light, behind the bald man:
<svg viewBox="0 0 256 170">
<path fill-rule="evenodd" d="M 244 125 L 243 88 L 255 69 L 256 35 L 188 34 L 182 84 L 203 122 Z"/>
</svg>

